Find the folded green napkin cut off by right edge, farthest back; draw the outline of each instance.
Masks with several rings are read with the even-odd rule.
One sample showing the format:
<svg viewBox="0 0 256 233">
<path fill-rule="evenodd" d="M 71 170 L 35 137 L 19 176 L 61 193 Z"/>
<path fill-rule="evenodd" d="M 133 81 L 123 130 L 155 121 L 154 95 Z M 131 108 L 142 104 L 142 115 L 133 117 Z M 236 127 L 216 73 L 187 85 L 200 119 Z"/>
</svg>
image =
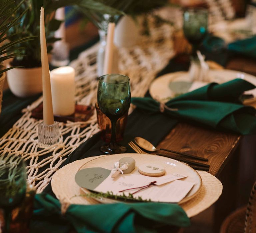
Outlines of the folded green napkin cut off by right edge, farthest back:
<svg viewBox="0 0 256 233">
<path fill-rule="evenodd" d="M 228 50 L 250 57 L 256 57 L 256 36 L 230 43 L 228 44 Z"/>
</svg>

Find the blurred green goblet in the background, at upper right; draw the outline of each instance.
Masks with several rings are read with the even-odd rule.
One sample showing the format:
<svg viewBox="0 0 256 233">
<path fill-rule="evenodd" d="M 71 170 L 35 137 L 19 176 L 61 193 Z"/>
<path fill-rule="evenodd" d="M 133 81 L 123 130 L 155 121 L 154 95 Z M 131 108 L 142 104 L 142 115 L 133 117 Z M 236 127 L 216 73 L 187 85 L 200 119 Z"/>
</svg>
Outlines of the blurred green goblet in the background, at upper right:
<svg viewBox="0 0 256 233">
<path fill-rule="evenodd" d="M 202 43 L 208 28 L 208 12 L 204 8 L 187 8 L 183 13 L 183 32 L 192 45 L 192 56 Z"/>
</svg>

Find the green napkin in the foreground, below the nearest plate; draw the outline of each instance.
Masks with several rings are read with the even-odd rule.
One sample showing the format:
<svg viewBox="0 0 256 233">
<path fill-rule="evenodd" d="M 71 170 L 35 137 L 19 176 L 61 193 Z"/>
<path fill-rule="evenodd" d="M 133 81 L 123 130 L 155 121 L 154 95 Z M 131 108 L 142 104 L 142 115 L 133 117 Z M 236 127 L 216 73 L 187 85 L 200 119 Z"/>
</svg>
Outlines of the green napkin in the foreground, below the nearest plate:
<svg viewBox="0 0 256 233">
<path fill-rule="evenodd" d="M 68 226 L 71 225 L 78 233 L 157 232 L 159 227 L 168 226 L 168 232 L 171 232 L 171 226 L 190 225 L 185 211 L 177 204 L 149 202 L 70 205 L 64 215 L 61 215 L 60 206 L 60 202 L 51 195 L 37 194 L 30 232 L 69 232 Z M 66 228 L 64 223 L 68 223 Z"/>
</svg>

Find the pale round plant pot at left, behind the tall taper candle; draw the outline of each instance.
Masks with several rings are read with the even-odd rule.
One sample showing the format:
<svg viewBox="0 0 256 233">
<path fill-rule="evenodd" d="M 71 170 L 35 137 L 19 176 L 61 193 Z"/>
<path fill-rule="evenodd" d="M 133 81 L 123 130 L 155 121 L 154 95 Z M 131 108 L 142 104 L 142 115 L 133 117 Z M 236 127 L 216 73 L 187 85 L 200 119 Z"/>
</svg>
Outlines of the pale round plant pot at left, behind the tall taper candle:
<svg viewBox="0 0 256 233">
<path fill-rule="evenodd" d="M 11 92 L 17 97 L 39 94 L 42 92 L 42 68 L 11 69 L 7 71 L 7 82 Z"/>
</svg>

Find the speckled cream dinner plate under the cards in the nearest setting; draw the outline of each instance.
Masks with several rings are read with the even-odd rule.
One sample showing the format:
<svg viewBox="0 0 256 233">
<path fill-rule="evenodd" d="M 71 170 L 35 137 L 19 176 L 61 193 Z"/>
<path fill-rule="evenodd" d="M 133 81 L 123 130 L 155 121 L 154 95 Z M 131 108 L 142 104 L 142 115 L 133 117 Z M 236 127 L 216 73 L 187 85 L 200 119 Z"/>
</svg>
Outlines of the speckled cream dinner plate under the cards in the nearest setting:
<svg viewBox="0 0 256 233">
<path fill-rule="evenodd" d="M 181 173 L 183 175 L 187 175 L 188 177 L 184 178 L 183 180 L 193 182 L 194 186 L 189 191 L 189 193 L 186 195 L 186 197 L 179 202 L 179 204 L 184 203 L 184 202 L 190 200 L 191 198 L 193 198 L 199 192 L 199 190 L 202 186 L 202 179 L 196 170 L 194 170 L 190 166 L 188 166 L 182 162 L 179 162 L 175 159 L 171 159 L 171 158 L 167 158 L 167 157 L 163 157 L 163 156 L 159 156 L 159 155 L 136 154 L 136 153 L 106 155 L 106 156 L 102 156 L 100 158 L 92 159 L 91 161 L 82 165 L 79 168 L 79 170 L 84 169 L 84 168 L 90 168 L 90 167 L 103 167 L 103 168 L 112 170 L 114 168 L 114 162 L 117 162 L 122 157 L 127 157 L 127 156 L 134 158 L 135 162 L 136 162 L 136 167 L 131 172 L 132 174 L 141 175 L 138 172 L 138 167 L 139 167 L 139 165 L 141 165 L 143 163 L 157 163 L 165 168 L 166 175 L 176 173 L 176 172 Z M 81 189 L 84 190 L 86 193 L 89 192 L 85 188 L 81 188 Z M 102 203 L 116 202 L 115 200 L 108 199 L 108 198 L 100 198 L 97 200 Z"/>
</svg>

